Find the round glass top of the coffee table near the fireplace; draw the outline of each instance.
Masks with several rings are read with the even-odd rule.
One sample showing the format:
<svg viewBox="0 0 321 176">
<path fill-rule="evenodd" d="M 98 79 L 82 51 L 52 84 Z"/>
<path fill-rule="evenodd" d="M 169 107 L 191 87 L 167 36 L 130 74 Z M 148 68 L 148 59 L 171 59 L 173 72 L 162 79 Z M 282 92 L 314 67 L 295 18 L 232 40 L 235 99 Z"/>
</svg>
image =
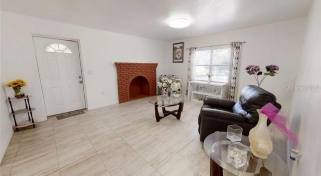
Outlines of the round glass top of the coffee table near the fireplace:
<svg viewBox="0 0 321 176">
<path fill-rule="evenodd" d="M 160 107 L 167 107 L 177 105 L 181 102 L 186 101 L 187 99 L 188 97 L 184 94 L 180 94 L 179 96 L 172 95 L 170 97 L 168 97 L 167 95 L 158 95 L 150 98 L 148 102 L 151 104 L 157 104 Z"/>
</svg>

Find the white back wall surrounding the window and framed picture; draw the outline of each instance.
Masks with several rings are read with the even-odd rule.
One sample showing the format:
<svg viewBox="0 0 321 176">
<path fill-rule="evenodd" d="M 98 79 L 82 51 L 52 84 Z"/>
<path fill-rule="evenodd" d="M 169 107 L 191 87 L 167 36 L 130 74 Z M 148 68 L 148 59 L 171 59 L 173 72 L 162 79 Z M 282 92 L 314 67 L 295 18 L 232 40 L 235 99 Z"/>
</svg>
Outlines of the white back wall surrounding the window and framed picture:
<svg viewBox="0 0 321 176">
<path fill-rule="evenodd" d="M 174 42 L 185 42 L 185 48 L 208 46 L 215 44 L 228 44 L 231 41 L 246 41 L 242 45 L 241 59 L 239 62 L 238 88 L 237 92 L 248 84 L 255 84 L 253 76 L 245 72 L 245 66 L 249 64 L 260 65 L 265 70 L 268 64 L 277 64 L 280 67 L 279 74 L 274 77 L 267 77 L 261 87 L 274 93 L 282 104 L 282 110 L 288 112 L 291 92 L 284 92 L 284 84 L 293 84 L 297 60 L 300 57 L 303 41 L 303 31 L 306 18 L 298 18 L 288 21 L 281 21 L 266 25 L 243 28 L 233 31 L 226 31 L 204 35 L 193 38 L 186 38 Z M 172 43 L 171 46 L 172 47 Z M 171 49 L 172 50 L 172 49 Z M 177 74 L 183 82 L 183 90 L 187 81 L 188 50 L 184 50 L 184 63 L 172 63 L 168 59 L 170 72 Z M 172 53 L 170 53 L 172 54 Z"/>
</svg>

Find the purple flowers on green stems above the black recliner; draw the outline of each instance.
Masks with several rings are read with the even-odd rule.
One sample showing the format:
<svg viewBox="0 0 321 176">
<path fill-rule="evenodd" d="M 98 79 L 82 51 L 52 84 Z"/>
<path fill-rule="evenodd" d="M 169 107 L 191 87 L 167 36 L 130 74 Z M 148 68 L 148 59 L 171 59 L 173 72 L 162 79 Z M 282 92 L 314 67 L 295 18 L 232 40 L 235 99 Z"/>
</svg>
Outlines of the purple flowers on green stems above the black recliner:
<svg viewBox="0 0 321 176">
<path fill-rule="evenodd" d="M 266 76 L 274 76 L 275 74 L 277 74 L 276 71 L 279 70 L 279 67 L 277 65 L 267 65 L 265 66 L 266 68 L 266 72 L 263 73 L 264 76 L 262 77 L 262 79 L 259 79 L 259 75 L 262 75 L 262 71 L 259 65 L 247 65 L 245 67 L 245 70 L 248 74 L 250 75 L 254 75 L 257 86 L 260 87 L 263 80 L 265 79 Z"/>
</svg>

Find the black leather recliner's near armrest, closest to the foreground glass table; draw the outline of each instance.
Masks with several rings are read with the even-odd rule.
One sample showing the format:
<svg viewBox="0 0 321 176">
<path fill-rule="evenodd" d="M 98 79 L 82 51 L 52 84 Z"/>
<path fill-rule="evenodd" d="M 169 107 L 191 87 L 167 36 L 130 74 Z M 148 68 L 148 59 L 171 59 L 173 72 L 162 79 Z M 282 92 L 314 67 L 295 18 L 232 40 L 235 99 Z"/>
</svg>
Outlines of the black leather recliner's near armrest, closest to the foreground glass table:
<svg viewBox="0 0 321 176">
<path fill-rule="evenodd" d="M 243 115 L 215 108 L 202 107 L 201 113 L 207 117 L 222 118 L 224 120 L 235 122 L 245 122 L 246 120 Z"/>
</svg>

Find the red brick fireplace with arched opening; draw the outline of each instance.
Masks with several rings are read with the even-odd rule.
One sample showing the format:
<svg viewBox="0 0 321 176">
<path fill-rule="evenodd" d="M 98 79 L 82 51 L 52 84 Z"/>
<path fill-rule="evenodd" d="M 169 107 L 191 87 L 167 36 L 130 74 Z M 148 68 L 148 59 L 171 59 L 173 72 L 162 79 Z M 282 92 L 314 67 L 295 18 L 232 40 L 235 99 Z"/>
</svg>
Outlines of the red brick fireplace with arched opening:
<svg viewBox="0 0 321 176">
<path fill-rule="evenodd" d="M 115 62 L 115 65 L 120 103 L 156 95 L 156 67 L 158 63 Z"/>
</svg>

